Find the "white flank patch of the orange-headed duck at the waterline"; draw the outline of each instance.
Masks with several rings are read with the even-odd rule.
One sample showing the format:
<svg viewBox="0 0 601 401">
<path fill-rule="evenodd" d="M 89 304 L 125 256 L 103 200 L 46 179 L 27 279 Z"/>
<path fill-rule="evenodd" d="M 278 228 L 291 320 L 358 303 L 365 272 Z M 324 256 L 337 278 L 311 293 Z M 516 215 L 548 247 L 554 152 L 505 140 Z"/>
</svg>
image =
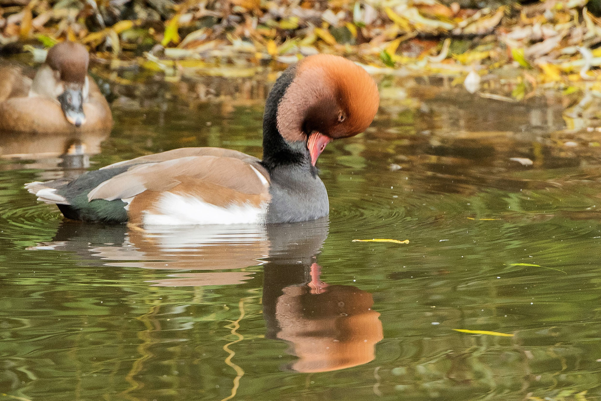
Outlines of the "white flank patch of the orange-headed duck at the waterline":
<svg viewBox="0 0 601 401">
<path fill-rule="evenodd" d="M 156 209 L 156 214 L 144 212 L 144 225 L 257 224 L 267 213 L 267 203 L 258 208 L 249 204 L 222 208 L 196 197 L 166 192 Z"/>
</svg>

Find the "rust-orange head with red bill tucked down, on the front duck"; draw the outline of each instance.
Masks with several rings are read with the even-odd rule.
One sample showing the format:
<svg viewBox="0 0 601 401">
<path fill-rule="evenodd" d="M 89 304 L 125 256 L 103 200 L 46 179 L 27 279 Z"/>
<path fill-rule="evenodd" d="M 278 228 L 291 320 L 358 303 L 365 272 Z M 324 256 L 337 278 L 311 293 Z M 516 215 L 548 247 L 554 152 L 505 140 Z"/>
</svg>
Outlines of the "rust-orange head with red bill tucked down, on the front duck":
<svg viewBox="0 0 601 401">
<path fill-rule="evenodd" d="M 373 121 L 379 106 L 374 80 L 340 56 L 309 56 L 278 106 L 278 131 L 288 142 L 307 141 L 311 163 L 332 139 L 354 136 Z"/>
</svg>

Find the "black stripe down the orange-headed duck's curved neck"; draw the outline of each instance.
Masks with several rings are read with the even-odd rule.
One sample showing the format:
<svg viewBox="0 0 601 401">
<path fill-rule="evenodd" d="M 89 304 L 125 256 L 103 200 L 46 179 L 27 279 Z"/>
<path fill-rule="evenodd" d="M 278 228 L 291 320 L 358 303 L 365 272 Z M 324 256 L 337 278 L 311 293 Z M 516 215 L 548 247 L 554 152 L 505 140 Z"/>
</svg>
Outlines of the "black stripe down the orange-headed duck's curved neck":
<svg viewBox="0 0 601 401">
<path fill-rule="evenodd" d="M 263 165 L 268 171 L 278 167 L 307 167 L 313 172 L 311 155 L 307 145 L 302 142 L 287 142 L 278 130 L 278 104 L 286 89 L 294 79 L 296 65 L 285 70 L 267 96 L 263 115 Z"/>
</svg>

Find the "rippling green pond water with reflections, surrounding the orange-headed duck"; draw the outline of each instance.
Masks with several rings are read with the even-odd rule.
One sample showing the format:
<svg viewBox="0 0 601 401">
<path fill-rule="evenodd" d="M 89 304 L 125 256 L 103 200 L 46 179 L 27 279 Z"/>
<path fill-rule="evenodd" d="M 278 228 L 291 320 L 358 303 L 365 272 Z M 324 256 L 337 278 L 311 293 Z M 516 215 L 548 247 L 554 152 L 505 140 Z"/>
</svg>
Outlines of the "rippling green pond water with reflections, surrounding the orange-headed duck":
<svg viewBox="0 0 601 401">
<path fill-rule="evenodd" d="M 368 131 L 319 159 L 329 219 L 297 225 L 63 221 L 23 184 L 81 173 L 57 164 L 73 138 L 4 134 L 0 401 L 601 399 L 601 133 L 554 95 L 380 85 Z M 267 89 L 113 89 L 91 168 L 260 157 Z"/>
</svg>

